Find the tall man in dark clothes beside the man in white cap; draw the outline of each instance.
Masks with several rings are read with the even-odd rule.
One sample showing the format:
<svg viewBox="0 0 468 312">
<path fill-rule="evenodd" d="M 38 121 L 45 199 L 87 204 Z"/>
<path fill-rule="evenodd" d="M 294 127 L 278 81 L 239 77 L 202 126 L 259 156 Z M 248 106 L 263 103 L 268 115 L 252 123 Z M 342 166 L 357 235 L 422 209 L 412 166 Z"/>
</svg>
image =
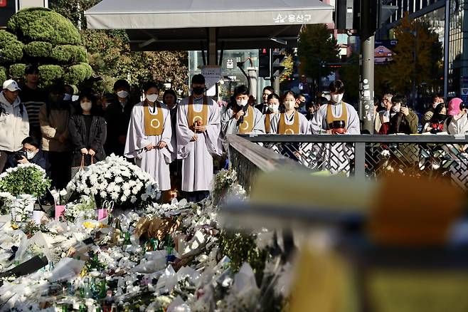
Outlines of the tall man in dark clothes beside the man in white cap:
<svg viewBox="0 0 468 312">
<path fill-rule="evenodd" d="M 45 90 L 38 87 L 39 70 L 37 66 L 28 66 L 24 71 L 26 83 L 21 86 L 21 103 L 28 110 L 29 133 L 41 142 L 41 125 L 39 124 L 39 110 L 46 104 L 48 94 Z"/>
</svg>

